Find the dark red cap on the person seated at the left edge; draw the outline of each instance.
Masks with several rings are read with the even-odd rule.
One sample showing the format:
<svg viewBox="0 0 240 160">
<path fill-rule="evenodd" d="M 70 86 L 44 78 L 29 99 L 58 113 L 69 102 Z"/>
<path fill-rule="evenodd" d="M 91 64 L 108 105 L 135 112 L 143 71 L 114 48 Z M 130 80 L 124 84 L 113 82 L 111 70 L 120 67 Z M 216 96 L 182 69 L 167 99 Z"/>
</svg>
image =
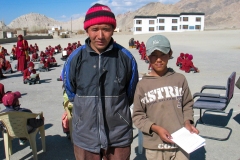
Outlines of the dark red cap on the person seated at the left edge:
<svg viewBox="0 0 240 160">
<path fill-rule="evenodd" d="M 17 102 L 18 98 L 20 97 L 21 97 L 21 93 L 18 91 L 9 92 L 3 96 L 2 103 L 4 106 L 12 106 Z"/>
</svg>

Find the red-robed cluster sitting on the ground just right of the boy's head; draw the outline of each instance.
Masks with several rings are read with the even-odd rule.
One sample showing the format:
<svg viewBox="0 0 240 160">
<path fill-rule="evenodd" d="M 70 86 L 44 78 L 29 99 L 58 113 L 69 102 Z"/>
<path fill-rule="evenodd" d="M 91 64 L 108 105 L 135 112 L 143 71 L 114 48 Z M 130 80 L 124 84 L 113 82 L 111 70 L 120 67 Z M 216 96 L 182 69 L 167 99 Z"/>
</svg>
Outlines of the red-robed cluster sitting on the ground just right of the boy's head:
<svg viewBox="0 0 240 160">
<path fill-rule="evenodd" d="M 177 58 L 176 65 L 186 73 L 193 71 L 194 73 L 200 72 L 197 67 L 194 66 L 193 62 L 193 55 L 191 54 L 184 54 L 180 53 L 179 57 Z"/>
</svg>

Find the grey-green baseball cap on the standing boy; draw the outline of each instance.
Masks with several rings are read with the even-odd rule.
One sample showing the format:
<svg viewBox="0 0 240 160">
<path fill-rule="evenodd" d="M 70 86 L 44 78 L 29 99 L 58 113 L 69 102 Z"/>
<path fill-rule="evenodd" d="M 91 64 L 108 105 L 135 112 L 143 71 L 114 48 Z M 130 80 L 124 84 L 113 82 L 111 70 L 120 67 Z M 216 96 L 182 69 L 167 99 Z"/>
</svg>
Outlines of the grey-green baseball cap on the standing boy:
<svg viewBox="0 0 240 160">
<path fill-rule="evenodd" d="M 147 56 L 150 56 L 155 50 L 168 54 L 171 49 L 169 40 L 163 35 L 150 37 L 146 43 Z"/>
</svg>

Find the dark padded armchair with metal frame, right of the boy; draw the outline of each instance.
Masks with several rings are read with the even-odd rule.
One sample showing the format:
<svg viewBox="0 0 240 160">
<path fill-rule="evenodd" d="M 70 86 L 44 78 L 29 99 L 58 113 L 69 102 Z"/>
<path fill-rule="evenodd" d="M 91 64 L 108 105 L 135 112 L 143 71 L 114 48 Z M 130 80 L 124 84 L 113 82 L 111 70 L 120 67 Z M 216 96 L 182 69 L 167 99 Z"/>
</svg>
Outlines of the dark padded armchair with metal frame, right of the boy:
<svg viewBox="0 0 240 160">
<path fill-rule="evenodd" d="M 212 127 L 218 127 L 218 128 L 225 128 L 229 130 L 229 134 L 227 138 L 215 138 L 215 137 L 209 137 L 209 136 L 202 136 L 204 138 L 208 139 L 213 139 L 213 140 L 219 140 L 219 141 L 224 141 L 227 140 L 231 133 L 232 129 L 229 127 L 225 126 L 217 126 L 217 125 L 210 125 L 206 124 L 202 116 L 206 112 L 220 112 L 220 113 L 225 113 L 225 109 L 227 108 L 228 104 L 230 103 L 232 97 L 233 97 L 233 92 L 234 92 L 234 83 L 235 83 L 235 77 L 236 77 L 236 72 L 233 72 L 228 80 L 227 80 L 227 85 L 226 86 L 216 86 L 216 85 L 205 85 L 202 87 L 202 90 L 200 93 L 195 93 L 193 95 L 193 98 L 199 97 L 193 104 L 194 109 L 200 109 L 200 118 L 197 120 L 195 126 L 197 124 L 203 124 L 206 126 L 212 126 Z M 212 94 L 212 93 L 203 93 L 204 90 L 206 89 L 214 89 L 214 90 L 226 90 L 225 95 L 220 95 L 220 94 Z M 205 109 L 204 113 L 202 114 L 202 109 Z"/>
</svg>

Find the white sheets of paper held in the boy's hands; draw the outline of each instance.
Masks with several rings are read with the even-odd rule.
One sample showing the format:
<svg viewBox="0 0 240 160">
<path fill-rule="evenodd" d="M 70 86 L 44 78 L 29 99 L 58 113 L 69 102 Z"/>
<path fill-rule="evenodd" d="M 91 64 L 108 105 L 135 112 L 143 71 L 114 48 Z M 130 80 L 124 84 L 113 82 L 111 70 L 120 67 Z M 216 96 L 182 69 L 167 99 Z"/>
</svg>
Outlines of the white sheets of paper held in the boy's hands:
<svg viewBox="0 0 240 160">
<path fill-rule="evenodd" d="M 185 127 L 171 135 L 173 137 L 171 140 L 187 153 L 191 153 L 206 144 L 205 139 L 196 133 L 190 133 Z"/>
</svg>

